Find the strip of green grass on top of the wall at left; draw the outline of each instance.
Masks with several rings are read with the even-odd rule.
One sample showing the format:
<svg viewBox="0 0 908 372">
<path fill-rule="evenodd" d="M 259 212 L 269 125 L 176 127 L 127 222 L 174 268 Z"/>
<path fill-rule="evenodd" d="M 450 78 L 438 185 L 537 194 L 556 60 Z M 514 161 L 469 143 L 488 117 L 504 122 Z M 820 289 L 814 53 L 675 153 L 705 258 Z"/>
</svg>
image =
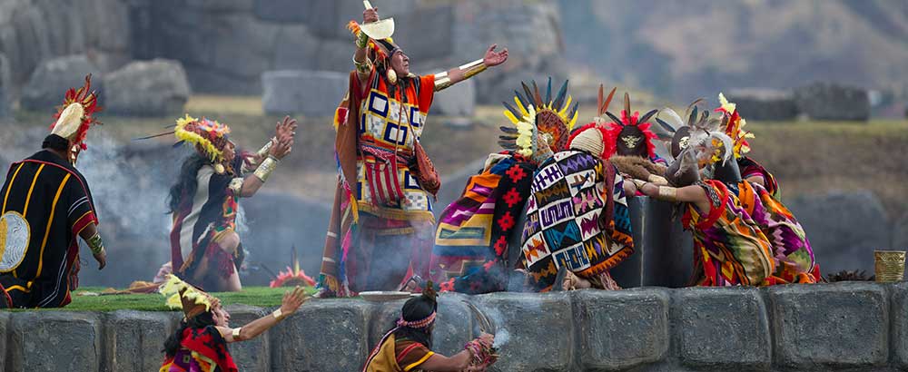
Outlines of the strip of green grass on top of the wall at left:
<svg viewBox="0 0 908 372">
<path fill-rule="evenodd" d="M 114 311 L 114 310 L 142 310 L 142 311 L 176 311 L 164 306 L 165 298 L 160 294 L 129 294 L 84 296 L 84 293 L 100 293 L 103 288 L 84 287 L 73 293 L 73 302 L 63 310 L 67 311 Z M 290 288 L 247 287 L 240 292 L 212 293 L 221 299 L 224 305 L 242 304 L 262 308 L 281 305 L 283 294 Z M 315 294 L 315 289 L 307 288 L 306 293 Z M 25 310 L 20 310 L 25 311 Z"/>
</svg>

